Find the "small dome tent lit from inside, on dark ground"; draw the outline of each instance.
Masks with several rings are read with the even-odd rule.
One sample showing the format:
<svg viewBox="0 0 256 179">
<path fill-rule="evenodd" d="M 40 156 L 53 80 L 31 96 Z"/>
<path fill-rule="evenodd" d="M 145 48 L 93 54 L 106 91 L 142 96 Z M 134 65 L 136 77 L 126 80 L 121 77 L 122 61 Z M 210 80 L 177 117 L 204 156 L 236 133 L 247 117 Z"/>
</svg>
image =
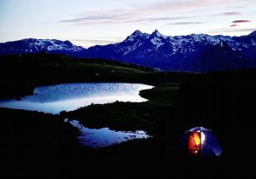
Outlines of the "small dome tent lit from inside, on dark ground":
<svg viewBox="0 0 256 179">
<path fill-rule="evenodd" d="M 185 153 L 194 156 L 219 156 L 222 153 L 216 136 L 204 127 L 187 130 L 181 139 L 180 147 Z"/>
</svg>

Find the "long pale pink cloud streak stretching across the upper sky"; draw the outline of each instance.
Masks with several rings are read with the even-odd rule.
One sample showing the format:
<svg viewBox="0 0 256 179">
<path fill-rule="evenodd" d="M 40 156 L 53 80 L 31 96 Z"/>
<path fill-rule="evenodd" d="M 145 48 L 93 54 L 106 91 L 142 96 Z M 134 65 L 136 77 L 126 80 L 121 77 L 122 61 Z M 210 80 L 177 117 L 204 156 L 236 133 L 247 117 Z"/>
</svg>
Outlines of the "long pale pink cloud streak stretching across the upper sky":
<svg viewBox="0 0 256 179">
<path fill-rule="evenodd" d="M 134 5 L 122 9 L 103 9 L 80 13 L 76 18 L 61 20 L 61 23 L 71 23 L 75 26 L 91 26 L 102 24 L 122 23 L 152 23 L 154 21 L 171 21 L 180 19 L 191 19 L 200 16 L 197 12 L 201 10 L 223 9 L 230 4 L 245 3 L 247 0 L 183 0 L 165 3 L 148 3 L 147 5 Z M 195 12 L 191 15 L 191 12 Z M 181 15 L 175 13 L 189 13 Z M 222 15 L 235 15 L 239 12 L 226 12 Z M 219 14 L 218 14 L 219 15 Z M 203 16 L 203 15 L 201 15 Z"/>
</svg>

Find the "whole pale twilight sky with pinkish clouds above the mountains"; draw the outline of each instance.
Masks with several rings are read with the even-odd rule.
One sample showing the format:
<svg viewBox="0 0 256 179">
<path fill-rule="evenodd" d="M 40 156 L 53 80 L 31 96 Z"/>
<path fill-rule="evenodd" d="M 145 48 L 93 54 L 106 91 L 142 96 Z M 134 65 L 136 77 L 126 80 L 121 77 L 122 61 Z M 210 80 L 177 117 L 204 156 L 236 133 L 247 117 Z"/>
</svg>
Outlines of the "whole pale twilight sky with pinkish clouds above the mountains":
<svg viewBox="0 0 256 179">
<path fill-rule="evenodd" d="M 168 36 L 256 31 L 256 0 L 0 0 L 0 43 L 70 40 L 117 43 L 135 30 Z"/>
</svg>

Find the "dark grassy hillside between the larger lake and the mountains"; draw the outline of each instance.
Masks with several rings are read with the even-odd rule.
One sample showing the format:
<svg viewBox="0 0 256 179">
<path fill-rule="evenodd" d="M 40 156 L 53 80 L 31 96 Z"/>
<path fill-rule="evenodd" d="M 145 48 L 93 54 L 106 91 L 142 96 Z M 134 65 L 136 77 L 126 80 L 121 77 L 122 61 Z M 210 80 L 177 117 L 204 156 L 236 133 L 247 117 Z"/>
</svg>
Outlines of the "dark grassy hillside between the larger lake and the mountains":
<svg viewBox="0 0 256 179">
<path fill-rule="evenodd" d="M 35 86 L 77 82 L 157 84 L 183 72 L 157 72 L 144 66 L 47 53 L 0 57 L 0 98 L 32 94 Z"/>
</svg>

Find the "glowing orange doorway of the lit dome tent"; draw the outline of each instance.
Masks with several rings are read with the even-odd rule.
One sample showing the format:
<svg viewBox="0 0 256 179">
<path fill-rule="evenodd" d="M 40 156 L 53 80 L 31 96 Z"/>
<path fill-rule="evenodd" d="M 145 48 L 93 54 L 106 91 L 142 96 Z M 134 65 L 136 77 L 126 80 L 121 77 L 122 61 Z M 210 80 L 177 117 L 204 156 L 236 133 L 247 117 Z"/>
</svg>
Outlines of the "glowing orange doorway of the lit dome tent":
<svg viewBox="0 0 256 179">
<path fill-rule="evenodd" d="M 189 153 L 198 155 L 201 152 L 201 132 L 191 132 L 189 135 Z"/>
</svg>

